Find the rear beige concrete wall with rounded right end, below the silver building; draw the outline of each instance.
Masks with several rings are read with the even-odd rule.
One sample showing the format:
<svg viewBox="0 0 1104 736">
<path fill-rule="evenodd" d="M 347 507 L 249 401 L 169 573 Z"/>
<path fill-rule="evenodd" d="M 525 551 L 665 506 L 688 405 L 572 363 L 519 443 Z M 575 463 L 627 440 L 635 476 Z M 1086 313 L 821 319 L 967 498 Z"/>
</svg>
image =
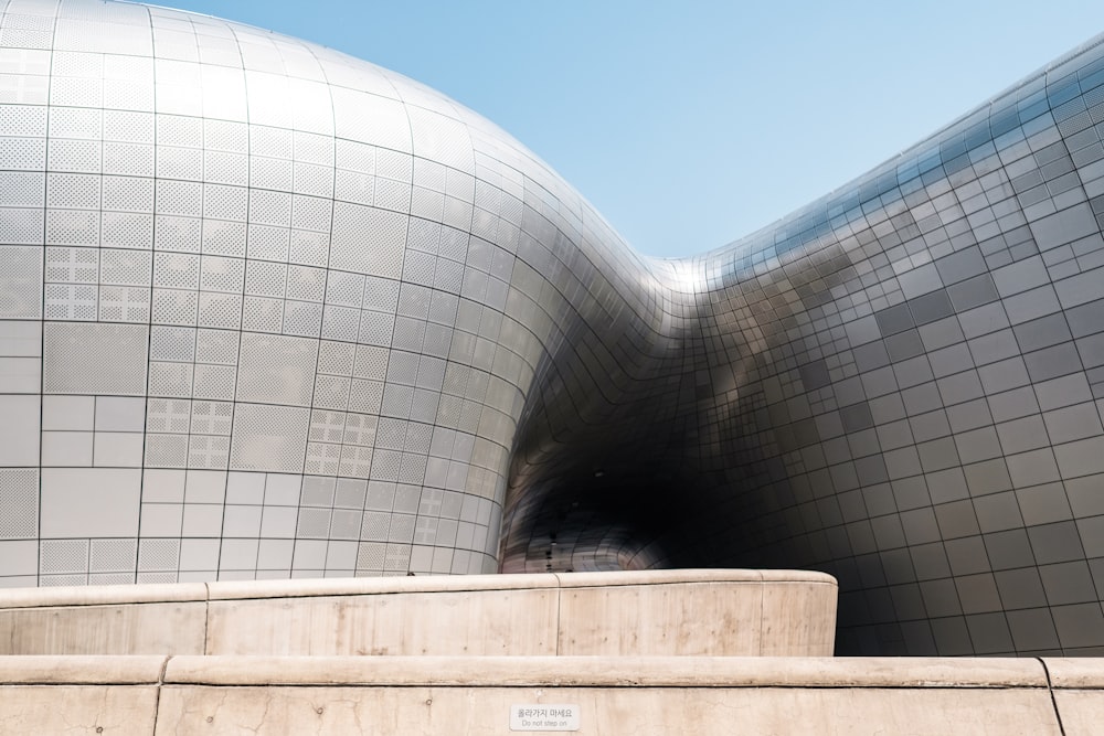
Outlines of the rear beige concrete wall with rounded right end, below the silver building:
<svg viewBox="0 0 1104 736">
<path fill-rule="evenodd" d="M 0 654 L 832 653 L 836 580 L 792 570 L 0 591 Z"/>
</svg>

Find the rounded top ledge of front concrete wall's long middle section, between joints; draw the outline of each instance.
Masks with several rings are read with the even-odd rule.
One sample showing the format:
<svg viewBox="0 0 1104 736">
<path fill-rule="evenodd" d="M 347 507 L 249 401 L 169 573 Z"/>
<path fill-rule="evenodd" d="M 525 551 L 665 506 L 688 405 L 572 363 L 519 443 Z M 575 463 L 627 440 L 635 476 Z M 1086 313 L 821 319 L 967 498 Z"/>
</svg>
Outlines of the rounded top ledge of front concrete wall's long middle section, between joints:
<svg viewBox="0 0 1104 736">
<path fill-rule="evenodd" d="M 164 682 L 233 686 L 1045 689 L 1047 674 L 1032 659 L 185 655 L 171 658 Z"/>
</svg>

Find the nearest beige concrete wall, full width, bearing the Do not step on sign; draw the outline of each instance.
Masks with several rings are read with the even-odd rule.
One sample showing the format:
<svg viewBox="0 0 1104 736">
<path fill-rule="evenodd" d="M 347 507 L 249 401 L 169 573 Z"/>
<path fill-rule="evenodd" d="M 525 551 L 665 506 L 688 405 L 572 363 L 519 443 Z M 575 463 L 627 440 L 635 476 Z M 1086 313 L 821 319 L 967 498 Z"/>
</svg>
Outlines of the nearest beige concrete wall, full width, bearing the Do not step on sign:
<svg viewBox="0 0 1104 736">
<path fill-rule="evenodd" d="M 578 734 L 1074 736 L 1104 660 L 0 658 L 2 733 L 502 734 L 517 706 Z"/>
</svg>

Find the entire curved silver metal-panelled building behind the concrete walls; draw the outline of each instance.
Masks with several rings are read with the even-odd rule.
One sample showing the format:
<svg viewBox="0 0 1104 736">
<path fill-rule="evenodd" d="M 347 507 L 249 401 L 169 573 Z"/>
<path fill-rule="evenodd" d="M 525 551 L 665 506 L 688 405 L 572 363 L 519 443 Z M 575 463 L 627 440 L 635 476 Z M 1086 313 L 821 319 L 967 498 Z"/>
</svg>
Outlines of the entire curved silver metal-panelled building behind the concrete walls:
<svg viewBox="0 0 1104 736">
<path fill-rule="evenodd" d="M 841 653 L 1104 647 L 1098 42 L 655 260 L 385 70 L 2 10 L 0 585 L 798 567 Z"/>
</svg>

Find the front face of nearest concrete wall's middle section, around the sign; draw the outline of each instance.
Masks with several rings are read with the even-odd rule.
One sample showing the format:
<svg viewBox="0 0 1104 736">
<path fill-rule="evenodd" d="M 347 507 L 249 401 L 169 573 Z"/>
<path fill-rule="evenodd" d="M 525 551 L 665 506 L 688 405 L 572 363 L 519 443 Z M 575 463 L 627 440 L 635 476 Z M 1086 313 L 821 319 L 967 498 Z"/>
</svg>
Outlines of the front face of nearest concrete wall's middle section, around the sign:
<svg viewBox="0 0 1104 736">
<path fill-rule="evenodd" d="M 1061 733 L 1045 690 L 172 685 L 157 733 L 503 734 L 518 704 L 577 705 L 578 734 Z"/>
</svg>

